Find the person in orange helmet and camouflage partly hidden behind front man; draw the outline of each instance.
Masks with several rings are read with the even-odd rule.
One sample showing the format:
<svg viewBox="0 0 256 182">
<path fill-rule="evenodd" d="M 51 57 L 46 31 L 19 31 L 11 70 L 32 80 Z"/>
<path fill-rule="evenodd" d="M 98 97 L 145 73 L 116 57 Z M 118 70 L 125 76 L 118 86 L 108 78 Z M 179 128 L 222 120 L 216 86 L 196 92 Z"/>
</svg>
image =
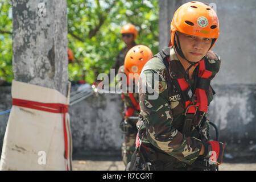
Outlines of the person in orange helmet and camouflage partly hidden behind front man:
<svg viewBox="0 0 256 182">
<path fill-rule="evenodd" d="M 135 78 L 135 74 L 139 77 L 144 64 L 152 57 L 151 50 L 143 45 L 138 45 L 130 49 L 125 57 L 125 64 L 119 68 L 118 73 L 125 73 L 127 76 L 127 87 L 132 86 L 135 90 L 135 86 L 138 87 L 138 78 Z M 136 81 L 131 81 L 135 78 Z M 127 89 L 128 91 L 129 89 Z M 138 89 L 137 89 L 138 90 Z M 124 140 L 122 143 L 122 158 L 125 166 L 131 160 L 131 155 L 135 151 L 135 138 L 137 134 L 136 123 L 137 117 L 141 111 L 139 107 L 139 94 L 138 92 L 123 92 L 121 95 L 123 104 L 125 106 L 125 112 L 123 113 L 123 121 L 120 123 L 120 127 L 123 131 Z M 134 118 L 131 118 L 134 117 Z"/>
</svg>

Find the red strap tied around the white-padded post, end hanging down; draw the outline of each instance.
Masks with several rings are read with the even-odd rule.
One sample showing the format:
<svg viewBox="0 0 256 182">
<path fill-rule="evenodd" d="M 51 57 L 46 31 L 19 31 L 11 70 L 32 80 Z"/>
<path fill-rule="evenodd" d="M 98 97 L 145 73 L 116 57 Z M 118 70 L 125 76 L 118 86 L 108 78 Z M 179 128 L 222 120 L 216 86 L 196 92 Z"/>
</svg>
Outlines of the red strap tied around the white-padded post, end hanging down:
<svg viewBox="0 0 256 182">
<path fill-rule="evenodd" d="M 55 104 L 55 103 L 42 103 L 42 102 L 35 102 L 35 101 L 27 101 L 21 100 L 18 98 L 13 98 L 13 105 L 20 106 L 20 107 L 27 107 L 30 109 L 36 109 L 41 111 L 47 111 L 49 113 L 62 113 L 63 114 L 63 129 L 64 129 L 64 144 L 65 144 L 65 159 L 68 159 L 68 134 L 67 128 L 65 125 L 66 121 L 66 113 L 68 113 L 68 105 L 65 104 Z M 67 170 L 68 164 L 67 164 Z"/>
</svg>

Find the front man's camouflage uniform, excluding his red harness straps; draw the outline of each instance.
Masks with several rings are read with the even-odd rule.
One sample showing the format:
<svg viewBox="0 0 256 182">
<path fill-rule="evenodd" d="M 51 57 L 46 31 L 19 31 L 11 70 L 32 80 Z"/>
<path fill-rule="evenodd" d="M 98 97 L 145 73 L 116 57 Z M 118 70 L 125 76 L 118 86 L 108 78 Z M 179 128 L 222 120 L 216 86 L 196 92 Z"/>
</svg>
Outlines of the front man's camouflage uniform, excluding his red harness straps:
<svg viewBox="0 0 256 182">
<path fill-rule="evenodd" d="M 170 50 L 170 67 L 172 74 L 178 78 L 184 77 L 185 70 L 177 59 L 174 47 Z M 196 87 L 195 79 L 198 73 L 197 65 L 193 72 L 192 79 L 188 82 L 193 90 Z M 210 80 L 220 69 L 220 59 L 217 55 L 207 57 L 205 68 L 212 72 Z M 149 100 L 149 93 L 142 93 L 142 83 L 139 81 L 139 97 L 141 113 L 137 123 L 137 129 L 143 136 L 142 144 L 146 147 L 145 158 L 154 163 L 156 170 L 187 170 L 195 169 L 193 165 L 203 166 L 203 159 L 199 156 L 202 142 L 209 140 L 209 120 L 205 114 L 204 119 L 196 126 L 193 126 L 191 137 L 185 137 L 182 133 L 184 124 L 185 105 L 175 85 L 171 82 L 171 88 L 167 89 L 167 69 L 163 61 L 158 57 L 152 57 L 144 66 L 142 76 L 159 76 L 159 93 L 156 100 Z M 154 79 L 154 76 L 152 76 Z M 153 81 L 153 80 L 152 80 Z M 145 82 L 144 82 L 145 83 Z M 148 85 L 147 85 L 148 86 Z M 170 89 L 170 90 L 169 90 Z M 169 90 L 169 91 L 168 91 Z M 171 91 L 171 92 L 170 92 Z M 169 92 L 169 93 L 168 93 Z M 212 87 L 207 90 L 208 105 L 213 99 Z M 142 147 L 143 148 L 143 147 Z M 146 152 L 145 152 L 146 151 Z"/>
</svg>

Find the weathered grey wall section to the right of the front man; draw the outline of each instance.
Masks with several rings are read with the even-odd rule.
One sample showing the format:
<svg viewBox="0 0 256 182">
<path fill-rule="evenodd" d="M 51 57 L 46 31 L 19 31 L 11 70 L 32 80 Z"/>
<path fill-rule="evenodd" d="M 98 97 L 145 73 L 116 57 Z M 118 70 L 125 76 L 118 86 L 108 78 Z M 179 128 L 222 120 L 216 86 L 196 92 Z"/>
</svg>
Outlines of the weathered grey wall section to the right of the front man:
<svg viewBox="0 0 256 182">
<path fill-rule="evenodd" d="M 209 106 L 210 121 L 228 143 L 256 144 L 256 85 L 213 85 L 216 91 Z"/>
</svg>

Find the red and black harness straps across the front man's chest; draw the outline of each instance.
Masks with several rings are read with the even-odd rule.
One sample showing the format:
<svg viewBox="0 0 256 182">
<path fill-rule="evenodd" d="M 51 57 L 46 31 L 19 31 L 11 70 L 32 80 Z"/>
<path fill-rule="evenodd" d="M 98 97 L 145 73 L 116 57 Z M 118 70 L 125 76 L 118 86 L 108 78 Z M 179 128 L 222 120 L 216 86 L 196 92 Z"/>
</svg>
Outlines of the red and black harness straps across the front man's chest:
<svg viewBox="0 0 256 182">
<path fill-rule="evenodd" d="M 195 119 L 195 115 L 198 113 L 199 117 L 197 120 L 201 121 L 203 115 L 208 110 L 208 100 L 206 90 L 210 88 L 210 79 L 212 76 L 212 72 L 205 69 L 205 59 L 199 61 L 199 73 L 196 79 L 196 89 L 195 93 L 193 93 L 191 85 L 188 84 L 185 78 L 172 78 L 170 74 L 170 47 L 163 49 L 154 57 L 158 57 L 163 60 L 164 65 L 167 70 L 167 86 L 168 93 L 170 93 L 171 81 L 174 83 L 176 89 L 181 94 L 181 98 L 185 102 L 185 122 L 183 126 L 183 134 L 186 136 L 191 135 L 192 124 L 200 123 L 193 121 Z"/>
</svg>

